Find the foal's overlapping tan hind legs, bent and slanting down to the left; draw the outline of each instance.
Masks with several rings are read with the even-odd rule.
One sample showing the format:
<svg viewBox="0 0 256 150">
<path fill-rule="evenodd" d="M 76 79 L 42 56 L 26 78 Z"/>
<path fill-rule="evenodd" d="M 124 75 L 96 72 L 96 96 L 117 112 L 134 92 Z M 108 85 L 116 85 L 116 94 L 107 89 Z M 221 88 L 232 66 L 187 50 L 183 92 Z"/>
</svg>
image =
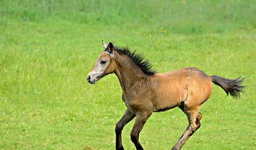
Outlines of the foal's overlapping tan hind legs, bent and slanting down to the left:
<svg viewBox="0 0 256 150">
<path fill-rule="evenodd" d="M 188 119 L 188 126 L 177 141 L 177 143 L 172 147 L 172 149 L 180 149 L 185 141 L 193 135 L 193 133 L 200 128 L 201 123 L 200 120 L 202 119 L 202 114 L 199 112 L 201 106 L 198 106 L 193 109 L 182 110 L 187 116 Z"/>
</svg>

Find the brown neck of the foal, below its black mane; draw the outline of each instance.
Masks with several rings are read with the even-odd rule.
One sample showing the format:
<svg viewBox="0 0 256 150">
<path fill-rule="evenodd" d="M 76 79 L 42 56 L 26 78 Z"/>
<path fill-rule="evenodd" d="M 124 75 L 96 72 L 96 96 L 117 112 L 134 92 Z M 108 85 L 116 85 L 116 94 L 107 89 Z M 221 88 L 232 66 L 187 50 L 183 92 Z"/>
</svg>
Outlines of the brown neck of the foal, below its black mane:
<svg viewBox="0 0 256 150">
<path fill-rule="evenodd" d="M 127 90 L 130 90 L 138 80 L 147 78 L 147 75 L 142 72 L 141 68 L 126 55 L 118 54 L 116 66 L 115 74 L 118 77 L 121 88 L 125 93 L 127 93 Z"/>
</svg>

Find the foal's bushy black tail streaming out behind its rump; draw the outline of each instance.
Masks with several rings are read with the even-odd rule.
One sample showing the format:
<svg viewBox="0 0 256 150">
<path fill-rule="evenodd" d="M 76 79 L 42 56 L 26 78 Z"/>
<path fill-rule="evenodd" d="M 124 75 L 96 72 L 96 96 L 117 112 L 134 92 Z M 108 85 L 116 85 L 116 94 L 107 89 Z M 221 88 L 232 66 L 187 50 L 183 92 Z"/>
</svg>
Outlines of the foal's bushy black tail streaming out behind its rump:
<svg viewBox="0 0 256 150">
<path fill-rule="evenodd" d="M 236 78 L 236 79 L 226 79 L 220 76 L 210 76 L 212 82 L 218 86 L 220 86 L 227 95 L 230 94 L 233 98 L 240 98 L 240 94 L 244 93 L 244 85 L 241 85 L 244 78 Z"/>
</svg>

